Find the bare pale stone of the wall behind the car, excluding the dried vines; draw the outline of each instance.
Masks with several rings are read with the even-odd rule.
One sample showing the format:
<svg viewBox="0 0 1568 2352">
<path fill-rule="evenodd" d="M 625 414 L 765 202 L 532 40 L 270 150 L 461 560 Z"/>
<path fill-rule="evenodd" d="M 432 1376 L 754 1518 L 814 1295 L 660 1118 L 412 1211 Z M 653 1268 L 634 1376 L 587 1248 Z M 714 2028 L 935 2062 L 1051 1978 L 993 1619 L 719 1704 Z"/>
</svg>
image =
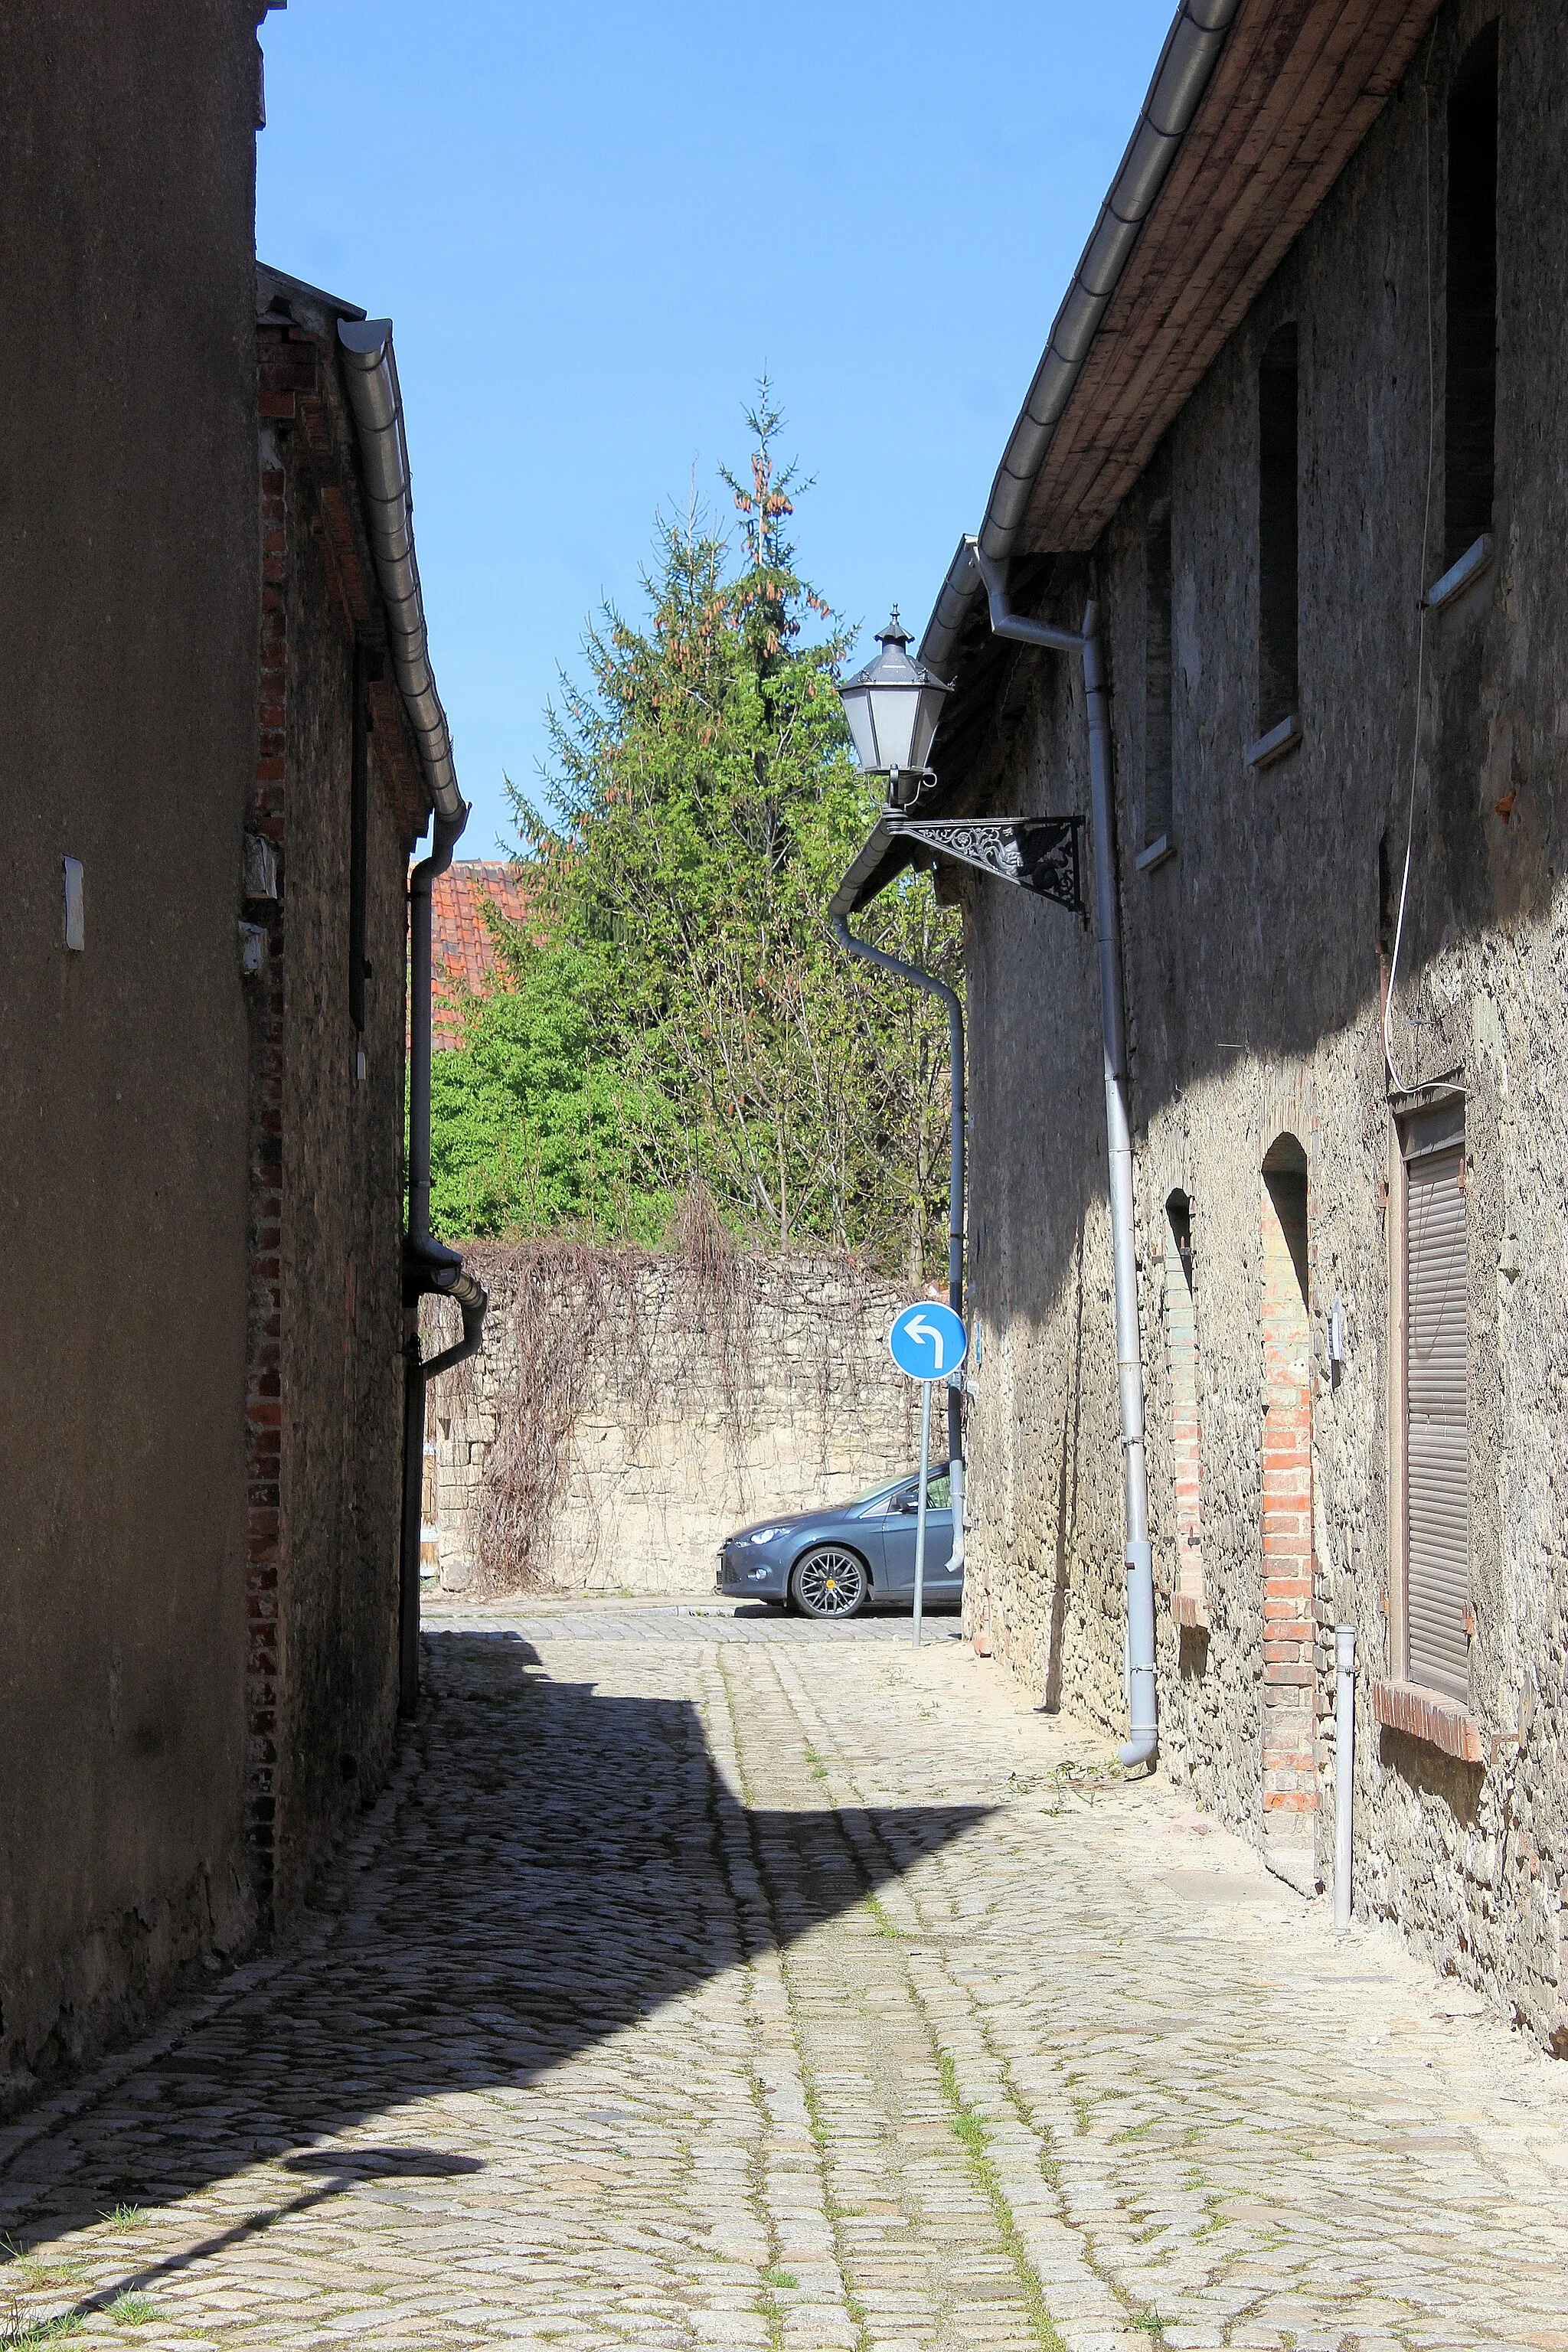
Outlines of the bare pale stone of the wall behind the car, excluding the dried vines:
<svg viewBox="0 0 1568 2352">
<path fill-rule="evenodd" d="M 440 1573 L 484 1573 L 475 1508 L 517 1425 L 517 1256 L 473 1249 L 487 1345 L 433 1390 Z M 529 1578 L 574 1592 L 712 1592 L 731 1529 L 849 1501 L 919 1458 L 912 1383 L 886 1334 L 905 1294 L 842 1261 L 738 1258 L 722 1305 L 679 1258 L 621 1261 L 559 1435 Z M 440 1319 L 440 1310 L 433 1322 Z M 940 1428 L 940 1423 L 938 1423 Z M 945 1435 L 933 1432 L 945 1449 Z"/>
</svg>

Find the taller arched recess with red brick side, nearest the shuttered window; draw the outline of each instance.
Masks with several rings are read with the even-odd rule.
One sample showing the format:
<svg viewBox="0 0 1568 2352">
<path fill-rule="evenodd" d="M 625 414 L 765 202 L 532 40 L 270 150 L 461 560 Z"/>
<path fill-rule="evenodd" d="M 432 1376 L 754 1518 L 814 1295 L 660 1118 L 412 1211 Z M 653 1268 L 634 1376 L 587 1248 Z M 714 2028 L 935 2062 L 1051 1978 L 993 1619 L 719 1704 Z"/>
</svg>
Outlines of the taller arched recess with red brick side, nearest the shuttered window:
<svg viewBox="0 0 1568 2352">
<path fill-rule="evenodd" d="M 1262 1160 L 1262 1835 L 1309 1867 L 1316 1813 L 1307 1152 Z"/>
</svg>

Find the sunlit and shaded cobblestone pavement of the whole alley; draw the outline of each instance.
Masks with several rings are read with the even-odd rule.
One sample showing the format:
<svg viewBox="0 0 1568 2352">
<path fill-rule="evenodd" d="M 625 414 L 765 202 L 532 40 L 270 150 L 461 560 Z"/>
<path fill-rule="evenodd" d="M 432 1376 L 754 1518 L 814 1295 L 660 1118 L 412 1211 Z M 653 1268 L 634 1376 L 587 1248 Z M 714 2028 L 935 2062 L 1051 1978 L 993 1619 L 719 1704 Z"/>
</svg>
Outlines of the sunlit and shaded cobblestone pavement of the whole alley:
<svg viewBox="0 0 1568 2352">
<path fill-rule="evenodd" d="M 0 2133 L 0 2340 L 1568 2347 L 1568 2067 L 950 1623 L 425 1653 L 303 1943 Z"/>
</svg>

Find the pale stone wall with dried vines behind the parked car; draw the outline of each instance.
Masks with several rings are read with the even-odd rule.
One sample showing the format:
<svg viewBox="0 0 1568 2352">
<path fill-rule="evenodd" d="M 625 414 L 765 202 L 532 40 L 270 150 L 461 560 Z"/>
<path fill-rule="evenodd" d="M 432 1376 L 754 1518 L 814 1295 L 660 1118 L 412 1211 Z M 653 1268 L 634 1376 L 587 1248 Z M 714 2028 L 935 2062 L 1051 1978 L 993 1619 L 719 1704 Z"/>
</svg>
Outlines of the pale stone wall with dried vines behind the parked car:
<svg viewBox="0 0 1568 2352">
<path fill-rule="evenodd" d="M 444 1590 L 710 1592 L 731 1529 L 914 1461 L 905 1291 L 849 1258 L 473 1256 L 487 1343 L 428 1425 Z"/>
</svg>

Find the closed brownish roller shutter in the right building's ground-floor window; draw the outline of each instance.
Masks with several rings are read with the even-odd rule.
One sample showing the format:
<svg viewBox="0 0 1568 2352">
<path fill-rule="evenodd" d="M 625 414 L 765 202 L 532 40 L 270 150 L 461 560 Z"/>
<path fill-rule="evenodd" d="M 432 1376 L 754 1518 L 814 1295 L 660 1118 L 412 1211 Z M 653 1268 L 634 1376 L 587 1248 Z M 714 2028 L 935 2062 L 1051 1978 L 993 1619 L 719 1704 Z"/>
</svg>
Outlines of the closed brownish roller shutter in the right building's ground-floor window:
<svg viewBox="0 0 1568 2352">
<path fill-rule="evenodd" d="M 1406 1162 L 1406 1632 L 1410 1682 L 1469 1696 L 1465 1145 Z"/>
</svg>

